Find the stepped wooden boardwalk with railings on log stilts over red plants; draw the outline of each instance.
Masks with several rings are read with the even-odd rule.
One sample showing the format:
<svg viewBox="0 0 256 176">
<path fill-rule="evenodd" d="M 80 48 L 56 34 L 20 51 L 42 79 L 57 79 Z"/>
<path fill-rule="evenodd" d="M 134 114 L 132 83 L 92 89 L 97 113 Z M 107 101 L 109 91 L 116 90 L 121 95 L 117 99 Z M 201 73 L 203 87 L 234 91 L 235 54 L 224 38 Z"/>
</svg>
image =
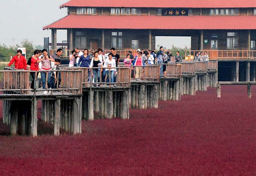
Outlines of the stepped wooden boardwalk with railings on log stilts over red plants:
<svg viewBox="0 0 256 176">
<path fill-rule="evenodd" d="M 81 120 L 129 119 L 129 108 L 158 108 L 158 100 L 181 100 L 183 94 L 194 95 L 217 83 L 217 77 L 210 76 L 217 74 L 217 62 L 170 63 L 166 67 L 166 75 L 160 75 L 160 65 L 146 65 L 141 78 L 131 78 L 130 68 L 118 67 L 114 83 L 93 82 L 89 68 L 61 67 L 57 71 L 62 75 L 60 87 L 46 95 L 42 88 L 30 88 L 29 74 L 33 71 L 8 68 L 0 71 L 4 78 L 0 90 L 3 121 L 10 125 L 12 135 L 37 136 L 40 100 L 41 120 L 54 124 L 54 135 L 60 134 L 60 128 L 77 134 L 81 133 Z"/>
</svg>

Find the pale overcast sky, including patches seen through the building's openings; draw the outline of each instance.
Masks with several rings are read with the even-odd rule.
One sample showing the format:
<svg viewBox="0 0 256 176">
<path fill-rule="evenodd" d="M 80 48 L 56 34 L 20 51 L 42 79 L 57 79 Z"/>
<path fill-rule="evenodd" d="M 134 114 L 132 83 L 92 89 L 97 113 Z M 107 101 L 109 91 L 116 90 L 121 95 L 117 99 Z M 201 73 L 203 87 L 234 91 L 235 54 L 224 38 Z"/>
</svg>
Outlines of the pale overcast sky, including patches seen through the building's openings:
<svg viewBox="0 0 256 176">
<path fill-rule="evenodd" d="M 67 9 L 59 9 L 68 0 L 0 0 L 0 44 L 20 44 L 27 38 L 34 45 L 43 45 L 43 38 L 50 37 L 51 30 L 42 27 L 67 15 Z M 57 30 L 57 42 L 67 40 L 66 30 Z M 190 47 L 190 38 L 157 37 L 156 46 L 171 45 Z"/>
</svg>

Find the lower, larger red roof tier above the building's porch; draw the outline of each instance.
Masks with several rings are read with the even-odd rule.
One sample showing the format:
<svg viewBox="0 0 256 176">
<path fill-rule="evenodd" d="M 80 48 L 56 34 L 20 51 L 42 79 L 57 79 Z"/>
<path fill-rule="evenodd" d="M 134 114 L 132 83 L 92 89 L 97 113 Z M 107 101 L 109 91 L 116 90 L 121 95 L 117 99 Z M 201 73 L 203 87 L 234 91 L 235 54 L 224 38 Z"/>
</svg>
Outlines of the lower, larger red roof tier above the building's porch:
<svg viewBox="0 0 256 176">
<path fill-rule="evenodd" d="M 78 22 L 79 21 L 79 22 Z M 162 21 L 161 23 L 159 23 Z M 256 16 L 68 15 L 44 29 L 256 29 Z M 96 22 L 96 23 L 95 23 Z M 202 24 L 202 25 L 199 25 Z"/>
</svg>

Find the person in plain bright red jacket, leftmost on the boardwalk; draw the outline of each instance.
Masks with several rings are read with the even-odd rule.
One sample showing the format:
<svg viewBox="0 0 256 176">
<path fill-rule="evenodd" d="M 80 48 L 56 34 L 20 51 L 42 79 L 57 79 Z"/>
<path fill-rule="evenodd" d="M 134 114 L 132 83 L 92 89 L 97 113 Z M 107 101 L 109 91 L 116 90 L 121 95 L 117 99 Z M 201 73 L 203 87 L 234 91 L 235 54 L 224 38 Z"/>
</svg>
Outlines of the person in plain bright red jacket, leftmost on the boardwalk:
<svg viewBox="0 0 256 176">
<path fill-rule="evenodd" d="M 6 67 L 10 67 L 13 63 L 14 63 L 15 69 L 27 70 L 27 60 L 22 55 L 21 50 L 17 50 L 17 55 L 12 57 L 12 60 L 10 61 L 10 63 L 6 65 Z"/>
</svg>

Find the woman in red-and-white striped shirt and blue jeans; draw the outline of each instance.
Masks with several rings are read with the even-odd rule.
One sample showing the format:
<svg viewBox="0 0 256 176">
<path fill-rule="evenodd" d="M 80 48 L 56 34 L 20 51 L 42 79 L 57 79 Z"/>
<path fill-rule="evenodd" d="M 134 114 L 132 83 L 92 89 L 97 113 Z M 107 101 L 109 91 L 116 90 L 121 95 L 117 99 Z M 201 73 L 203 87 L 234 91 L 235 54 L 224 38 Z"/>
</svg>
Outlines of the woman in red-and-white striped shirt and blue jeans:
<svg viewBox="0 0 256 176">
<path fill-rule="evenodd" d="M 48 88 L 51 88 L 51 61 L 54 62 L 54 59 L 52 56 L 48 55 L 47 50 L 44 49 L 42 50 L 43 57 L 42 59 L 39 60 L 39 62 L 42 62 L 42 67 L 40 68 L 41 71 L 41 78 L 42 78 L 42 86 L 43 89 L 45 89 L 45 84 L 46 84 L 46 74 L 48 74 L 47 78 L 47 86 Z M 47 91 L 44 91 L 43 94 L 47 94 Z"/>
</svg>

